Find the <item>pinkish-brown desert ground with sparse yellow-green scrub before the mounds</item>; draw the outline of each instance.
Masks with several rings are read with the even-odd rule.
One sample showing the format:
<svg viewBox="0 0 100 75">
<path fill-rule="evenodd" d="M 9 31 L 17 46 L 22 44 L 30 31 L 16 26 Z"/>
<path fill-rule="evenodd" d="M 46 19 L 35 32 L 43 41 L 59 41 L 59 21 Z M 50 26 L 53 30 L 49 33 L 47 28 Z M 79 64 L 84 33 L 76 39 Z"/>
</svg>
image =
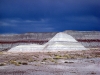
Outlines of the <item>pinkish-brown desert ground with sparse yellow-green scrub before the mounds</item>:
<svg viewBox="0 0 100 75">
<path fill-rule="evenodd" d="M 100 49 L 0 52 L 0 75 L 100 75 Z"/>
</svg>

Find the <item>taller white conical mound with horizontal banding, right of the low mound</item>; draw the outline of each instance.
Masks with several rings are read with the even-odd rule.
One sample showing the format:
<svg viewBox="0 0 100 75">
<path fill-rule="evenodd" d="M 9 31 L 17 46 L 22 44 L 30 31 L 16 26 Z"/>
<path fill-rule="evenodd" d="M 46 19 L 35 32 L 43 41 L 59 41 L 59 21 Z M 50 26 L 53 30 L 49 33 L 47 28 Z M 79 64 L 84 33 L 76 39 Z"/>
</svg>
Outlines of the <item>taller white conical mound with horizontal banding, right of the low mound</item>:
<svg viewBox="0 0 100 75">
<path fill-rule="evenodd" d="M 60 32 L 56 34 L 44 48 L 47 51 L 72 51 L 72 50 L 86 50 L 86 48 L 77 42 L 72 36 Z"/>
</svg>

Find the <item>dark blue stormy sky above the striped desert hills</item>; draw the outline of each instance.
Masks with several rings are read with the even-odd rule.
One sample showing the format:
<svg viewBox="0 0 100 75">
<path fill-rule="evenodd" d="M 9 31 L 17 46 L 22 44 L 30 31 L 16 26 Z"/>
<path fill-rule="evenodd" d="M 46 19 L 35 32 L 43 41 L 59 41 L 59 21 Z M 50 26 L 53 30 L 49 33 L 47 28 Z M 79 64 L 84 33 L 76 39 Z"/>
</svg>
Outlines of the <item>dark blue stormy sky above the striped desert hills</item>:
<svg viewBox="0 0 100 75">
<path fill-rule="evenodd" d="M 100 0 L 0 0 L 0 33 L 100 31 Z"/>
</svg>

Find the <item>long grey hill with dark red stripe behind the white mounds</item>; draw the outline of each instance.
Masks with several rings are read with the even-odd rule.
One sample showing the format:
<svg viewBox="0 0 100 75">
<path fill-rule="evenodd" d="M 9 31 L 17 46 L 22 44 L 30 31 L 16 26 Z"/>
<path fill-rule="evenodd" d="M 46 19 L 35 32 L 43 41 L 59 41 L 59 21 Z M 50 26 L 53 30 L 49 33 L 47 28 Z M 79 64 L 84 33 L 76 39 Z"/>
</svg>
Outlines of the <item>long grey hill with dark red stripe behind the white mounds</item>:
<svg viewBox="0 0 100 75">
<path fill-rule="evenodd" d="M 16 46 L 29 45 L 29 44 L 36 44 L 41 46 L 43 44 L 46 44 L 48 41 L 50 41 L 57 33 L 58 32 L 1 34 L 0 51 L 9 50 Z M 68 31 L 67 30 L 64 31 L 63 33 L 72 36 L 77 42 L 82 44 L 85 48 L 100 48 L 100 31 L 72 31 L 72 30 Z M 65 42 L 63 41 L 63 44 L 64 43 Z"/>
</svg>

